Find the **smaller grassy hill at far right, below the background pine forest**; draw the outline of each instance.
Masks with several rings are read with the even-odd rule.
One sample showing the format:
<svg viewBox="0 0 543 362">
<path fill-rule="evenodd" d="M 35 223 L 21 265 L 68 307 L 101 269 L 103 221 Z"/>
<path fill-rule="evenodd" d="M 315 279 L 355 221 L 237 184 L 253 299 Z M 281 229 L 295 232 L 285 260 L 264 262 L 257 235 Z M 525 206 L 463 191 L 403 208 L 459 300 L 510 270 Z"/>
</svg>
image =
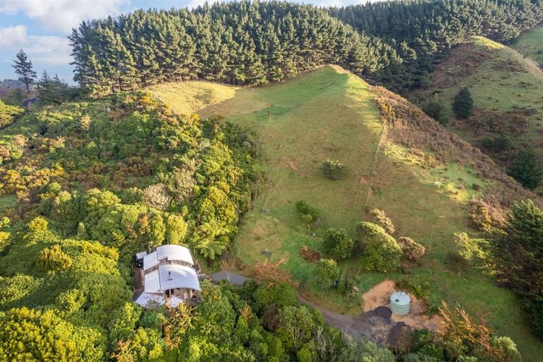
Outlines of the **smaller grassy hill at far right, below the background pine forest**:
<svg viewBox="0 0 543 362">
<path fill-rule="evenodd" d="M 475 105 L 472 117 L 465 120 L 454 119 L 450 107 L 462 87 L 469 88 Z M 527 144 L 543 155 L 543 72 L 532 59 L 484 37 L 473 37 L 452 49 L 431 74 L 431 86 L 411 93 L 409 99 L 422 106 L 433 93 L 438 93 L 447 107 L 451 119 L 448 129 L 463 139 L 483 148 L 484 139 L 510 139 L 505 151 L 484 148 L 498 163 L 509 165 Z"/>
</svg>

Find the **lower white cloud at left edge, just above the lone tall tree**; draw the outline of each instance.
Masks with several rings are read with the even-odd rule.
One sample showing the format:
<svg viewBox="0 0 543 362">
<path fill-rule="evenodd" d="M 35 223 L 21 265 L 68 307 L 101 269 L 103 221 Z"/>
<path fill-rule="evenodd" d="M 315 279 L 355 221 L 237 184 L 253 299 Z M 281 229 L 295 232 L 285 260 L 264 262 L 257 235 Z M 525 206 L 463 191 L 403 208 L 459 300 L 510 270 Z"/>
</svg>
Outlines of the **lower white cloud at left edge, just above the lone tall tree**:
<svg viewBox="0 0 543 362">
<path fill-rule="evenodd" d="M 15 57 L 19 49 L 24 49 L 34 64 L 69 64 L 71 47 L 66 37 L 27 35 L 25 25 L 0 28 L 0 47 L 2 57 Z M 8 56 L 7 54 L 10 54 Z"/>
</svg>

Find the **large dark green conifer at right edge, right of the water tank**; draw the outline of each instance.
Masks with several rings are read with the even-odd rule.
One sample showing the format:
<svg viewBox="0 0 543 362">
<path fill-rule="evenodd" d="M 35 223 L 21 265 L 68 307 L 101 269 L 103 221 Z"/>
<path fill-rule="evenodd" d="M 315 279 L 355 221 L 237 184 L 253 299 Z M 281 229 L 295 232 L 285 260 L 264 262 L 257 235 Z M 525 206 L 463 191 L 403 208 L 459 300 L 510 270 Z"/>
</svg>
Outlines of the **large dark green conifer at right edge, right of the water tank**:
<svg viewBox="0 0 543 362">
<path fill-rule="evenodd" d="M 489 247 L 496 276 L 518 296 L 543 338 L 543 212 L 531 200 L 514 204 Z"/>
</svg>

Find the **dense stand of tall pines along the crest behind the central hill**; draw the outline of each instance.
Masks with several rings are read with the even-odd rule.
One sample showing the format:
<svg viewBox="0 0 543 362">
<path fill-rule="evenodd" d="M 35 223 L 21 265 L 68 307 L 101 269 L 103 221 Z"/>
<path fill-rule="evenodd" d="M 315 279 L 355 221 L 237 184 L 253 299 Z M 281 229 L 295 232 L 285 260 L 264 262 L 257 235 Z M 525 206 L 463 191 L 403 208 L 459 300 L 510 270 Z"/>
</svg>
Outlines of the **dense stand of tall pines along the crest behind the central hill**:
<svg viewBox="0 0 543 362">
<path fill-rule="evenodd" d="M 83 22 L 69 38 L 76 81 L 97 95 L 194 78 L 257 85 L 327 63 L 369 76 L 399 62 L 326 11 L 286 2 L 136 11 Z"/>
</svg>

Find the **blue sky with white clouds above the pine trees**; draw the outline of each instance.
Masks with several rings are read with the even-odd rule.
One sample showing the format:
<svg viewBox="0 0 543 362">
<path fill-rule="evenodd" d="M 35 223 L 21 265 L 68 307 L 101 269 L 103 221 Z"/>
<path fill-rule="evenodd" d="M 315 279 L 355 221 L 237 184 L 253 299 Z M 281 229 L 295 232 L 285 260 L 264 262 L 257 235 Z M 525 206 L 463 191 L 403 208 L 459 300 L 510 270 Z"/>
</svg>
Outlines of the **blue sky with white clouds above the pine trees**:
<svg viewBox="0 0 543 362">
<path fill-rule="evenodd" d="M 364 0 L 294 0 L 317 6 L 359 4 Z M 184 8 L 205 0 L 0 0 L 0 81 L 17 78 L 13 59 L 23 49 L 38 76 L 44 69 L 73 83 L 71 47 L 66 35 L 83 20 L 139 8 Z M 211 2 L 211 1 L 210 1 Z"/>
</svg>

